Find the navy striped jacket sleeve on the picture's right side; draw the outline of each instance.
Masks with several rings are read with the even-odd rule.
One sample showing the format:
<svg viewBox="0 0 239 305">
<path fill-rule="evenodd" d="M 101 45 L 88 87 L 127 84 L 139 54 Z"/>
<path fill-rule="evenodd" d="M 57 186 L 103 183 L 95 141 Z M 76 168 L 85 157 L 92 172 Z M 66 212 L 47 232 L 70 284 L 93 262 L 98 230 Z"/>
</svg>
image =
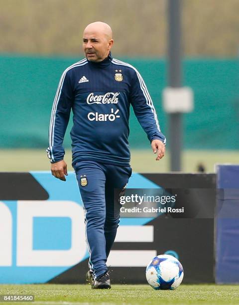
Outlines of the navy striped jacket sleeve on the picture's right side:
<svg viewBox="0 0 239 305">
<path fill-rule="evenodd" d="M 134 114 L 147 134 L 150 143 L 153 140 L 158 139 L 165 145 L 166 138 L 160 131 L 153 102 L 142 76 L 136 69 L 132 78 L 130 103 L 132 104 Z"/>
</svg>

